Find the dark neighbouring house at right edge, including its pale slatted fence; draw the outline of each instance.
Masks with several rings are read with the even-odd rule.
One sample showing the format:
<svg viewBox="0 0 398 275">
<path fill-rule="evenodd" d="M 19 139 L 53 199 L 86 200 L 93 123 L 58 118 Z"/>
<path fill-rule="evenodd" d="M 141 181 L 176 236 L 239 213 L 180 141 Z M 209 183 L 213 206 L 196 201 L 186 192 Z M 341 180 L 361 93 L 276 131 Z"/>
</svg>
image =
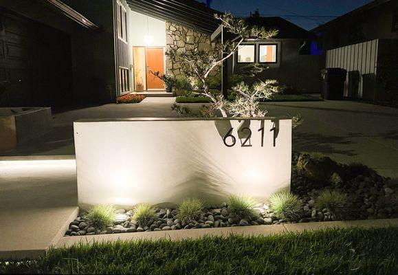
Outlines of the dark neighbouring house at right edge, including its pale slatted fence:
<svg viewBox="0 0 398 275">
<path fill-rule="evenodd" d="M 386 64 L 398 60 L 397 0 L 372 1 L 312 32 L 320 37 L 324 66 L 347 70 L 346 97 L 378 101 L 398 93 L 385 77 L 394 70 Z"/>
</svg>

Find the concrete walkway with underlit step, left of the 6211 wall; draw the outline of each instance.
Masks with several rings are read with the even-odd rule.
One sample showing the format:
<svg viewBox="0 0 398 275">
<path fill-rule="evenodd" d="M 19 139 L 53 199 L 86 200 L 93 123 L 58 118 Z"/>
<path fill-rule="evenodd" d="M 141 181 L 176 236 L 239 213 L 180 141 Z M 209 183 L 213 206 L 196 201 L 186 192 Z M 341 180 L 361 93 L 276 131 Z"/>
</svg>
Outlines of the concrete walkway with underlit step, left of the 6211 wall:
<svg viewBox="0 0 398 275">
<path fill-rule="evenodd" d="M 0 258 L 35 258 L 78 214 L 71 157 L 0 160 Z"/>
</svg>

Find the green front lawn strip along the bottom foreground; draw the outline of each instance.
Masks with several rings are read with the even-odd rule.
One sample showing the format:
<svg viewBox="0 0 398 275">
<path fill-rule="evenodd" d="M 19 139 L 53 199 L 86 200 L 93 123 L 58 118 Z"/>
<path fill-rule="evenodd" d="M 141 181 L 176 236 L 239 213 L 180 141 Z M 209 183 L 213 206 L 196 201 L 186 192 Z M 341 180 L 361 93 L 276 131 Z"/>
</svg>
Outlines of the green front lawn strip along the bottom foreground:
<svg viewBox="0 0 398 275">
<path fill-rule="evenodd" d="M 140 234 L 140 233 L 137 233 Z M 76 245 L 0 273 L 398 274 L 398 228 Z"/>
</svg>

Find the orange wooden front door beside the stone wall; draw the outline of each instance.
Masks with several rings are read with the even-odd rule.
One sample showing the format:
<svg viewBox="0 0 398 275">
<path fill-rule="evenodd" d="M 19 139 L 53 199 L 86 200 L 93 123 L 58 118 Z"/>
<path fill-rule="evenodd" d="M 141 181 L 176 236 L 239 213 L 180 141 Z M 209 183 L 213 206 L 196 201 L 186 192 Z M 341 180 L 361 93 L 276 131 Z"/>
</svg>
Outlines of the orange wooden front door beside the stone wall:
<svg viewBox="0 0 398 275">
<path fill-rule="evenodd" d="M 164 49 L 162 47 L 146 47 L 146 89 L 164 90 L 163 80 L 151 74 L 152 72 L 160 72 L 164 74 Z"/>
</svg>

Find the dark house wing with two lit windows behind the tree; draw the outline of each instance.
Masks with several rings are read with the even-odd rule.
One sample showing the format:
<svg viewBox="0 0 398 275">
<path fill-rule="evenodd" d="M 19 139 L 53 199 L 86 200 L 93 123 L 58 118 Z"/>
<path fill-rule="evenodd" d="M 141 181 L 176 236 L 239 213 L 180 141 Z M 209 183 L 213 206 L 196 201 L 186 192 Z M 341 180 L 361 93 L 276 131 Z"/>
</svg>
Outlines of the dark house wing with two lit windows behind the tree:
<svg viewBox="0 0 398 275">
<path fill-rule="evenodd" d="M 298 91 L 320 92 L 321 58 L 311 55 L 310 50 L 311 41 L 318 39 L 316 35 L 281 17 L 260 17 L 258 12 L 245 20 L 266 30 L 278 30 L 278 35 L 266 41 L 245 41 L 229 58 L 228 75 L 241 74 L 242 67 L 258 63 L 267 69 L 257 74 L 253 81 L 276 79 L 280 85 Z"/>
</svg>

